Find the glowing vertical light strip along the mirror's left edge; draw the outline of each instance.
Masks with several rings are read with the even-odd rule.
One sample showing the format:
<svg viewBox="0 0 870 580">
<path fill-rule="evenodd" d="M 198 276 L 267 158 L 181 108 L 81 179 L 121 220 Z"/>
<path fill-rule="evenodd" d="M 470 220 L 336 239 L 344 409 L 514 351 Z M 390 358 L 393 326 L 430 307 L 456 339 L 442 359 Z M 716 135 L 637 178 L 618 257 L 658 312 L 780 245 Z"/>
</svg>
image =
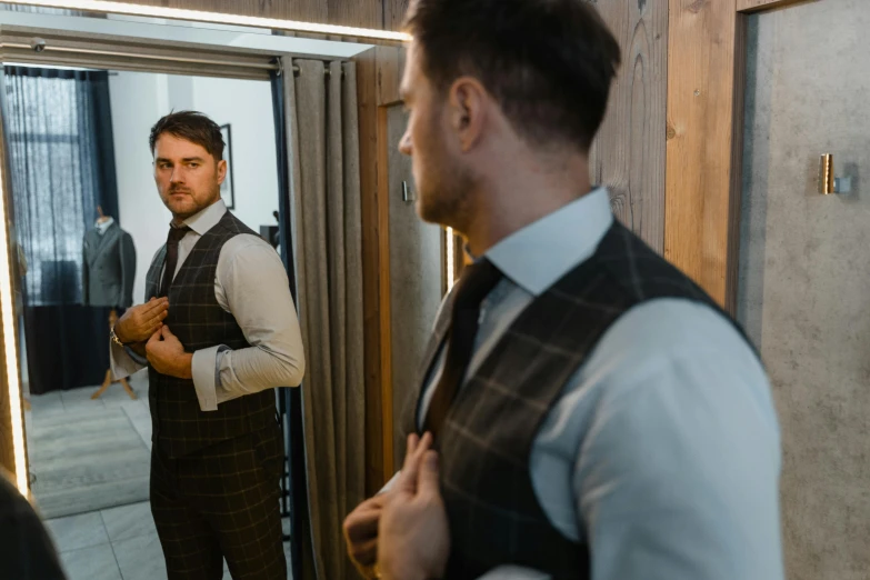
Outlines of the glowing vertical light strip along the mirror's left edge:
<svg viewBox="0 0 870 580">
<path fill-rule="evenodd" d="M 0 183 L 3 183 L 0 167 Z M 0 191 L 0 223 L 7 223 L 6 197 Z M 12 263 L 9 258 L 8 233 L 0 233 L 0 317 L 3 320 L 3 347 L 6 354 L 6 384 L 9 388 L 9 412 L 12 423 L 12 447 L 16 457 L 16 483 L 22 496 L 28 494 L 27 453 L 24 453 L 24 426 L 21 414 L 21 386 L 18 382 L 18 341 L 16 331 Z"/>
</svg>

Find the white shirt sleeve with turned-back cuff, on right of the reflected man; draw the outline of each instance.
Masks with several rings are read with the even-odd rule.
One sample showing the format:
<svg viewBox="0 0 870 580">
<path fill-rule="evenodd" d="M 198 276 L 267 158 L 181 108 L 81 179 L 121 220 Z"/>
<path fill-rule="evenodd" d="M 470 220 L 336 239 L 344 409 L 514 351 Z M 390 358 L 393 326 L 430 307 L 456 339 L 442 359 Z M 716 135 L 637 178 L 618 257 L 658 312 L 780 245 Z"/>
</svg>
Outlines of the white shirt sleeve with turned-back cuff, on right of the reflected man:
<svg viewBox="0 0 870 580">
<path fill-rule="evenodd" d="M 237 236 L 218 262 L 216 298 L 232 313 L 250 348 L 224 344 L 193 353 L 200 409 L 277 387 L 298 387 L 306 360 L 290 282 L 274 249 L 256 236 Z"/>
</svg>

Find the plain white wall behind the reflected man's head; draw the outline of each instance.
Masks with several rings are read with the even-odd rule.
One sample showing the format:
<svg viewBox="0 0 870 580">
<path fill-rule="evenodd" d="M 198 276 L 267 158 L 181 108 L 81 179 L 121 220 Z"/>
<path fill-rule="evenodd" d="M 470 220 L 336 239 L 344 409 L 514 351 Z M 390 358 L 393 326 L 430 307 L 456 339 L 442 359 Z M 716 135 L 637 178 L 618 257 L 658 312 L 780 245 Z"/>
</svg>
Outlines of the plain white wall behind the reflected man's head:
<svg viewBox="0 0 870 580">
<path fill-rule="evenodd" d="M 133 301 L 144 298 L 154 252 L 166 242 L 172 219 L 157 192 L 148 138 L 171 110 L 192 109 L 218 124 L 230 123 L 236 208 L 254 231 L 276 224 L 278 167 L 271 88 L 267 81 L 119 72 L 109 78 L 121 227 L 137 249 Z"/>
</svg>

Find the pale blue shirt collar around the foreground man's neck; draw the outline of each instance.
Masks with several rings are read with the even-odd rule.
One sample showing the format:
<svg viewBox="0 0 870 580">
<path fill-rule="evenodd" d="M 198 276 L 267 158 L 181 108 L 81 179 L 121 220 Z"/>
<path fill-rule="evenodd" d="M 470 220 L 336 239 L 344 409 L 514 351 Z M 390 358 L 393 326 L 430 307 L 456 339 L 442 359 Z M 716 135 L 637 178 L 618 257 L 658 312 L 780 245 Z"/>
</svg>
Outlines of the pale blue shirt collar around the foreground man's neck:
<svg viewBox="0 0 870 580">
<path fill-rule="evenodd" d="M 490 248 L 486 257 L 532 296 L 588 260 L 613 223 L 610 196 L 599 187 Z"/>
</svg>

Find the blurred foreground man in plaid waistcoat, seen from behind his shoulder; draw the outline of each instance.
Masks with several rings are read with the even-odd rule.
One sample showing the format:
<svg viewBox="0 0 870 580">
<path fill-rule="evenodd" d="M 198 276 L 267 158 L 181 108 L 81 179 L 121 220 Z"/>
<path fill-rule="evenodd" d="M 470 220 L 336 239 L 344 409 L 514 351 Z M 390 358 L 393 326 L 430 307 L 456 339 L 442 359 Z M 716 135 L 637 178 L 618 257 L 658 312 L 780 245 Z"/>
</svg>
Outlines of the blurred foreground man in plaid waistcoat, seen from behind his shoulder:
<svg viewBox="0 0 870 580">
<path fill-rule="evenodd" d="M 592 4 L 414 0 L 407 24 L 401 149 L 418 212 L 460 232 L 474 262 L 438 316 L 407 416 L 426 437 L 346 520 L 358 568 L 782 579 L 763 368 L 590 181 L 620 59 Z"/>
</svg>

